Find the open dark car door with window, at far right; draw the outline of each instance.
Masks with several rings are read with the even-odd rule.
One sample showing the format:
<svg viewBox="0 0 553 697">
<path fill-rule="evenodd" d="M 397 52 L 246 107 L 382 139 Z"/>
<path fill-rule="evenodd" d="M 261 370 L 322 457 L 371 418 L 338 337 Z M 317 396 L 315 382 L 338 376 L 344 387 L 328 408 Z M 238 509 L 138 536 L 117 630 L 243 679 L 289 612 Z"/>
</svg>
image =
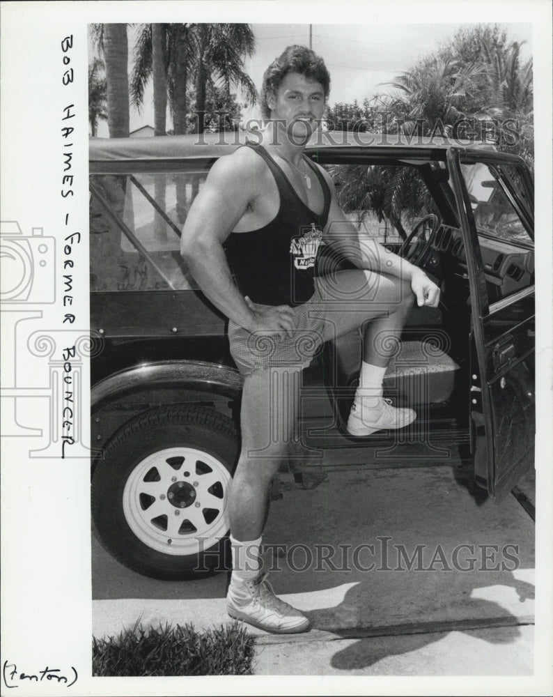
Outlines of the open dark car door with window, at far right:
<svg viewBox="0 0 553 697">
<path fill-rule="evenodd" d="M 533 185 L 511 155 L 450 148 L 447 159 L 472 305 L 475 475 L 501 500 L 534 459 Z"/>
</svg>

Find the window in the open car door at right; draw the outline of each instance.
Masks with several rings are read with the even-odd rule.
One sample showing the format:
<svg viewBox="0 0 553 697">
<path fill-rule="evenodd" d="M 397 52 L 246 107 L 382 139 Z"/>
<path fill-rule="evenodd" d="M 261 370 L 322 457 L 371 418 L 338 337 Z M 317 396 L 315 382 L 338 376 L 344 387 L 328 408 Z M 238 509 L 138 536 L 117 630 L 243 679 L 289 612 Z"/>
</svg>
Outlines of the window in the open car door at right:
<svg viewBox="0 0 553 697">
<path fill-rule="evenodd" d="M 533 240 L 511 200 L 513 196 L 517 197 L 522 206 L 527 206 L 515 167 L 501 165 L 504 178 L 485 162 L 465 163 L 461 167 L 478 234 L 513 245 L 533 247 Z"/>
</svg>

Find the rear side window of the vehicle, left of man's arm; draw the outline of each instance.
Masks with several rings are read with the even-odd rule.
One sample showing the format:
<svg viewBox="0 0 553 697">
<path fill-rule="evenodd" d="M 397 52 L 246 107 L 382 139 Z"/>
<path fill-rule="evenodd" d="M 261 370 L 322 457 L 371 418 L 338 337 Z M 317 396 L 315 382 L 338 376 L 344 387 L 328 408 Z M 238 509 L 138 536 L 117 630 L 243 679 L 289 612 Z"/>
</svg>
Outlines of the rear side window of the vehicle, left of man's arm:
<svg viewBox="0 0 553 697">
<path fill-rule="evenodd" d="M 180 256 L 180 231 L 206 176 L 91 176 L 91 290 L 196 289 Z"/>
</svg>

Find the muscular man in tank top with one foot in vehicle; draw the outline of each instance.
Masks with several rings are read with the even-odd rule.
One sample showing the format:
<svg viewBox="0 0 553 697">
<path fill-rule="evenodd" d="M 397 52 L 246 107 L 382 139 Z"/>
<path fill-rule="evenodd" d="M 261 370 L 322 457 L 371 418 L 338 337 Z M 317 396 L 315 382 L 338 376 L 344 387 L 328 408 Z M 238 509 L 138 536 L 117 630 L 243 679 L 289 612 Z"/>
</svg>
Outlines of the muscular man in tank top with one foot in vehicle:
<svg viewBox="0 0 553 697">
<path fill-rule="evenodd" d="M 242 452 L 229 494 L 228 613 L 276 632 L 309 628 L 305 615 L 274 595 L 258 560 L 270 483 L 297 435 L 299 374 L 322 342 L 363 326 L 348 431 L 366 436 L 410 424 L 412 409 L 382 399 L 394 351 L 389 337 L 400 335 L 415 298 L 432 307 L 439 300 L 419 268 L 375 240 L 359 240 L 332 180 L 304 157 L 329 83 L 322 59 L 301 46 L 288 47 L 267 68 L 261 100 L 269 120 L 261 142 L 214 164 L 182 233 L 182 256 L 196 282 L 229 318 L 231 353 L 244 376 Z M 321 243 L 357 269 L 313 277 Z"/>
</svg>

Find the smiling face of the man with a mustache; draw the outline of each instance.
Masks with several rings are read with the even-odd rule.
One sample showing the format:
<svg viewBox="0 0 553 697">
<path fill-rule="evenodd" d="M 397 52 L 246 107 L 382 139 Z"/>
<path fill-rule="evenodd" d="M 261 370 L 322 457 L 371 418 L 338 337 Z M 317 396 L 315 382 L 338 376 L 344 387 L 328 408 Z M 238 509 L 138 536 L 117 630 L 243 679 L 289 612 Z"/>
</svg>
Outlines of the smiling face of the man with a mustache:
<svg viewBox="0 0 553 697">
<path fill-rule="evenodd" d="M 316 130 L 325 111 L 325 90 L 320 82 L 307 79 L 299 72 L 289 72 L 267 98 L 271 118 L 286 121 L 289 137 L 302 141 Z"/>
</svg>

